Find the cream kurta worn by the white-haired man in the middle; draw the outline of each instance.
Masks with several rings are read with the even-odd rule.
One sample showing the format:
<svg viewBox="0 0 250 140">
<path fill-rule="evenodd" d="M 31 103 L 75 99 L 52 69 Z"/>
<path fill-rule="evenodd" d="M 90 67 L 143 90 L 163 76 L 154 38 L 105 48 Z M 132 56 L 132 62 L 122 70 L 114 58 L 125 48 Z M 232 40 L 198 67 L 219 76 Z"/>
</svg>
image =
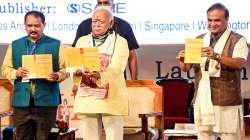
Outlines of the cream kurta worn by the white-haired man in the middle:
<svg viewBox="0 0 250 140">
<path fill-rule="evenodd" d="M 81 37 L 77 41 L 76 47 L 93 47 L 92 35 Z M 98 47 L 101 55 L 112 56 L 111 63 L 101 72 L 101 79 L 109 82 L 108 97 L 96 99 L 91 96 L 82 97 L 77 93 L 74 113 L 128 115 L 128 95 L 123 74 L 129 56 L 127 41 L 113 33 Z"/>
</svg>

